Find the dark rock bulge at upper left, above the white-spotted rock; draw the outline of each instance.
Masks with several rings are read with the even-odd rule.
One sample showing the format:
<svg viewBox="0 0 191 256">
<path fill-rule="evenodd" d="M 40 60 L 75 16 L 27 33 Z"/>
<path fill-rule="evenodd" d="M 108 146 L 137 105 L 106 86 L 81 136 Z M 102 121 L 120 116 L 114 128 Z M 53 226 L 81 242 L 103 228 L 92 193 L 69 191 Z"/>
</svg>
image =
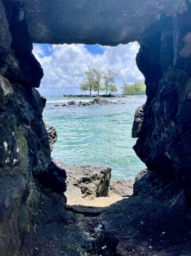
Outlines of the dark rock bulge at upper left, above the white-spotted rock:
<svg viewBox="0 0 191 256">
<path fill-rule="evenodd" d="M 22 2 L 3 1 L 9 32 L 11 49 L 6 59 L 3 75 L 10 81 L 25 87 L 39 87 L 43 69 L 32 54 L 33 44 L 26 23 L 26 11 Z M 9 45 L 10 38 L 8 39 Z"/>
</svg>

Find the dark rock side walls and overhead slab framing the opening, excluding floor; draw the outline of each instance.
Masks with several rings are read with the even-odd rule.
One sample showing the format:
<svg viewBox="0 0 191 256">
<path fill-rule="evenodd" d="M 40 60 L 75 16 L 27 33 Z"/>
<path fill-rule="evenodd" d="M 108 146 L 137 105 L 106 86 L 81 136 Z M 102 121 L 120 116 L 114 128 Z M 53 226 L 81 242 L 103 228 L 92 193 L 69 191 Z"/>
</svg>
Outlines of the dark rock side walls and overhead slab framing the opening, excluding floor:
<svg viewBox="0 0 191 256">
<path fill-rule="evenodd" d="M 51 197 L 55 202 L 64 198 L 65 173 L 51 162 L 42 119 L 45 99 L 35 89 L 43 70 L 32 54 L 33 42 L 139 41 L 137 63 L 146 78 L 147 102 L 134 149 L 157 182 L 176 183 L 186 194 L 183 206 L 189 204 L 190 0 L 60 0 L 53 5 L 50 0 L 0 0 L 0 19 L 2 255 L 16 255 L 23 237 L 35 232 L 47 191 L 57 193 Z"/>
</svg>

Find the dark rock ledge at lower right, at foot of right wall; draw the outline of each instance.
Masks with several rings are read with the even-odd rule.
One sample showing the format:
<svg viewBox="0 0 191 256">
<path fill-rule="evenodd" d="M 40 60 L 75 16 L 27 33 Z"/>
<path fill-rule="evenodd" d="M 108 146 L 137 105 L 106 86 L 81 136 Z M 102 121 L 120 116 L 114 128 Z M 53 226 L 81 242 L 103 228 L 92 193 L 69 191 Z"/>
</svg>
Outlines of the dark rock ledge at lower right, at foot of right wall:
<svg viewBox="0 0 191 256">
<path fill-rule="evenodd" d="M 152 197 L 165 205 L 169 211 L 188 223 L 191 223 L 190 197 L 178 180 L 161 177 L 156 172 L 141 170 L 133 185 L 133 194 L 139 198 Z"/>
</svg>

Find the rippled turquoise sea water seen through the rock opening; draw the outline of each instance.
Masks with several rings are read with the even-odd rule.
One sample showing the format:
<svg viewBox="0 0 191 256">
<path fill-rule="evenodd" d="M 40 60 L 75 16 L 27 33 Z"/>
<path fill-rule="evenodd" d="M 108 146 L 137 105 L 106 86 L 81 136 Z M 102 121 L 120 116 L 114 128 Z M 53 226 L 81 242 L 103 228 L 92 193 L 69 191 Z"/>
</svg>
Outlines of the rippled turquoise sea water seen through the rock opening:
<svg viewBox="0 0 191 256">
<path fill-rule="evenodd" d="M 132 139 L 131 133 L 135 110 L 146 101 L 146 96 L 110 99 L 120 104 L 70 107 L 54 105 L 92 99 L 63 96 L 46 96 L 46 99 L 44 120 L 58 134 L 53 158 L 74 166 L 110 166 L 112 180 L 135 178 L 145 168 L 133 150 L 136 139 Z"/>
</svg>

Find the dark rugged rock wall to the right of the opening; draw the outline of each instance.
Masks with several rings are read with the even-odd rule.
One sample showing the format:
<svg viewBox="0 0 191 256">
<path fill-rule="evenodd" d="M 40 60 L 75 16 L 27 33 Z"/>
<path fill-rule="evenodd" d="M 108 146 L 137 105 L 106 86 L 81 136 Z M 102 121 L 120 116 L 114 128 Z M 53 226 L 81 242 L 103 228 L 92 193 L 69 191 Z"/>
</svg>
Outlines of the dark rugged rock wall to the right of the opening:
<svg viewBox="0 0 191 256">
<path fill-rule="evenodd" d="M 163 16 L 142 38 L 136 58 L 146 78 L 147 101 L 134 150 L 159 184 L 178 184 L 175 194 L 181 189 L 185 207 L 191 195 L 190 17 L 191 9 Z"/>
</svg>

